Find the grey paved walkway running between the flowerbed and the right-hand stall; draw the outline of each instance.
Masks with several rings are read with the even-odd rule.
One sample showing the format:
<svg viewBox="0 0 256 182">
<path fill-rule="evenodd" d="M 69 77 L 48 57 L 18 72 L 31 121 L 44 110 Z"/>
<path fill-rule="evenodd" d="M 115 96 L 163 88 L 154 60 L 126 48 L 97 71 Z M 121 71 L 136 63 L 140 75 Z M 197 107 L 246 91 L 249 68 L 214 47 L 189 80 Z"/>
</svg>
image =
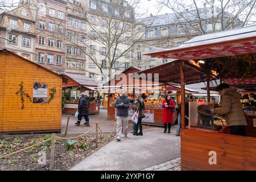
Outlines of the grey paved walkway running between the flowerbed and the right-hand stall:
<svg viewBox="0 0 256 182">
<path fill-rule="evenodd" d="M 71 170 L 138 171 L 150 167 L 178 170 L 180 137 L 174 135 L 175 129 L 176 126 L 172 127 L 171 134 L 168 134 L 163 133 L 163 127 L 150 126 L 143 129 L 143 136 L 129 133 L 127 138 L 120 142 L 113 140 Z"/>
</svg>

